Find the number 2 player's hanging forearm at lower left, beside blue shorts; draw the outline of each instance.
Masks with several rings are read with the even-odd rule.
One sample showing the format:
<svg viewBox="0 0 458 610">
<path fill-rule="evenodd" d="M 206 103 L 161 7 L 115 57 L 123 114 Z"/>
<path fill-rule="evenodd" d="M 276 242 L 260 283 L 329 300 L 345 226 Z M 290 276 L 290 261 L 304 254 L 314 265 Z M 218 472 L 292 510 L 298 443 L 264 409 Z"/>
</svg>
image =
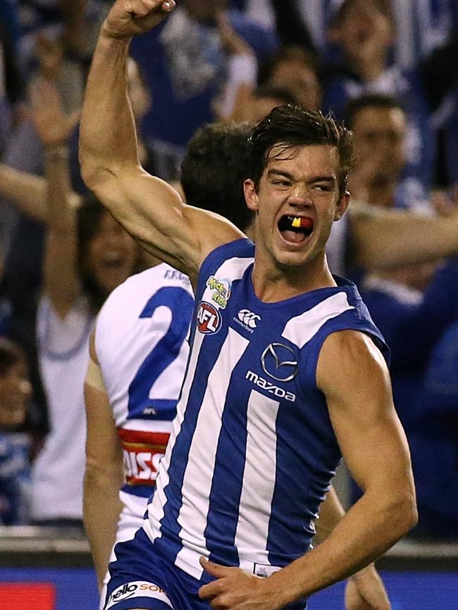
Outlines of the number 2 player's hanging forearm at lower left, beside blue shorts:
<svg viewBox="0 0 458 610">
<path fill-rule="evenodd" d="M 122 503 L 118 497 L 120 472 L 86 472 L 83 520 L 94 568 L 101 589 L 108 569 L 111 549 L 116 540 Z"/>
</svg>

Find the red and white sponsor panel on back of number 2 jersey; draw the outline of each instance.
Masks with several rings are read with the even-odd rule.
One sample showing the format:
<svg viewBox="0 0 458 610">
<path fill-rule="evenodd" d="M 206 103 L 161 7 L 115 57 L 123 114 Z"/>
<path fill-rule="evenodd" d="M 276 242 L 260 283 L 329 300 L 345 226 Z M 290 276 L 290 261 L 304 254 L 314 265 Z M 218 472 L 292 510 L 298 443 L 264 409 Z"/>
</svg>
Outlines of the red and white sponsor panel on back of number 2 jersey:
<svg viewBox="0 0 458 610">
<path fill-rule="evenodd" d="M 123 443 L 125 481 L 128 485 L 155 485 L 159 462 L 166 452 L 168 432 L 118 430 Z M 146 441 L 146 442 L 145 442 Z"/>
</svg>

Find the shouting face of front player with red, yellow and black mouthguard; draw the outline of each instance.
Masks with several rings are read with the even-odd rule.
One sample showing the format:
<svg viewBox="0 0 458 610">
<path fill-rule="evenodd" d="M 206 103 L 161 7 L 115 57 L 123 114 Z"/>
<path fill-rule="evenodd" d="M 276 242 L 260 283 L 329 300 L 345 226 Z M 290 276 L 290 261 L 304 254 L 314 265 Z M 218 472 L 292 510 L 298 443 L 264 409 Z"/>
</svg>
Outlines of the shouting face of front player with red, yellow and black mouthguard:
<svg viewBox="0 0 458 610">
<path fill-rule="evenodd" d="M 324 256 L 334 220 L 348 204 L 339 199 L 338 151 L 327 145 L 273 147 L 256 192 L 245 182 L 257 213 L 256 251 L 276 268 L 304 266 Z"/>
</svg>

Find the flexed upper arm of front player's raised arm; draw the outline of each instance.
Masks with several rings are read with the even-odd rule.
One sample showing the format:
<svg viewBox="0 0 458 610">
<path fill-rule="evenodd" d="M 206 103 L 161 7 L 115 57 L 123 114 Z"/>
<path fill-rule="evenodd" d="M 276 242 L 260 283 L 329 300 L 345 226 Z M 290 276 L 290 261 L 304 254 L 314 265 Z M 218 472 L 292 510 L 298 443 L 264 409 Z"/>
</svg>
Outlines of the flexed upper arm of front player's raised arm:
<svg viewBox="0 0 458 610">
<path fill-rule="evenodd" d="M 191 277 L 211 250 L 244 237 L 221 216 L 185 204 L 173 187 L 141 168 L 121 170 L 95 192 L 144 249 Z"/>
</svg>

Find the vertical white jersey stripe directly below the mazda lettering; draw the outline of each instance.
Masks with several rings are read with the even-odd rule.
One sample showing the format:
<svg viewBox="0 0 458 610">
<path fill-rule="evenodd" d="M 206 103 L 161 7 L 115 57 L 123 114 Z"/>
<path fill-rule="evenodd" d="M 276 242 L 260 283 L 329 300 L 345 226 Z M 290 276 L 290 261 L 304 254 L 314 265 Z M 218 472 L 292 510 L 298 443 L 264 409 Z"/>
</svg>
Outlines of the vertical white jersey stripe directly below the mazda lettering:
<svg viewBox="0 0 458 610">
<path fill-rule="evenodd" d="M 247 452 L 235 546 L 240 567 L 268 564 L 267 537 L 276 483 L 276 418 L 280 402 L 252 390 L 247 411 Z"/>
</svg>

